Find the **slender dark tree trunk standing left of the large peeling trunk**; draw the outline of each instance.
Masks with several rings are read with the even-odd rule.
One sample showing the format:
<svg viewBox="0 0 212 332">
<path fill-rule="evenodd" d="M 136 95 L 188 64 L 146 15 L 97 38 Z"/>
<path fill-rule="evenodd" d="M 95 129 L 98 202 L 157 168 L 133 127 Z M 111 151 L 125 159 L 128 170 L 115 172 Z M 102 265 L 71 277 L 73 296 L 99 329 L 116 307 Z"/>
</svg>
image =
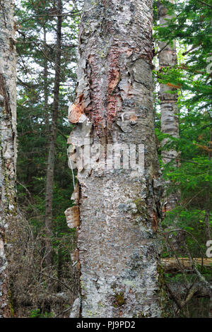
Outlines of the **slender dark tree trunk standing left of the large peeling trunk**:
<svg viewBox="0 0 212 332">
<path fill-rule="evenodd" d="M 62 23 L 62 1 L 57 0 L 57 45 L 55 57 L 55 76 L 54 76 L 54 101 L 52 105 L 52 126 L 50 131 L 49 155 L 47 161 L 47 182 L 46 182 L 46 206 L 45 206 L 45 228 L 46 228 L 46 266 L 52 265 L 52 245 L 50 237 L 52 237 L 52 201 L 54 186 L 54 160 L 55 148 L 57 140 L 57 119 L 59 109 L 59 84 L 61 75 L 61 23 Z"/>
</svg>

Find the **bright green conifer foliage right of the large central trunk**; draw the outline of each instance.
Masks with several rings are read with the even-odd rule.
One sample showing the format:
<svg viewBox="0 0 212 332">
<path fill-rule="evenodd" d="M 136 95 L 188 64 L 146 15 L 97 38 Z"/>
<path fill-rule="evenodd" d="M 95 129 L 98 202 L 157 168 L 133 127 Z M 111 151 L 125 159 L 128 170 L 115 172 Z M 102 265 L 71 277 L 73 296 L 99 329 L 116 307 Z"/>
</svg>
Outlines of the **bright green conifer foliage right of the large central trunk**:
<svg viewBox="0 0 212 332">
<path fill-rule="evenodd" d="M 160 131 L 157 105 L 155 132 L 160 143 L 166 138 L 158 153 L 164 179 L 170 182 L 167 196 L 171 192 L 181 193 L 175 209 L 166 213 L 163 227 L 167 230 L 175 223 L 176 227 L 190 232 L 200 247 L 187 234 L 185 241 L 189 251 L 193 256 L 201 256 L 201 251 L 206 253 L 206 240 L 210 237 L 206 225 L 212 226 L 212 75 L 208 71 L 212 49 L 212 7 L 208 0 L 175 1 L 175 4 L 160 2 L 167 6 L 172 18 L 167 20 L 164 28 L 158 24 L 155 14 L 155 42 L 171 44 L 173 40 L 177 41 L 178 62 L 172 68 L 155 70 L 154 74 L 159 83 L 175 86 L 178 90 L 179 138 Z M 176 160 L 165 165 L 162 162 L 162 150 L 172 149 L 179 152 L 178 167 Z M 182 252 L 187 255 L 185 248 Z M 163 255 L 169 254 L 173 255 L 173 252 L 165 251 Z"/>
</svg>

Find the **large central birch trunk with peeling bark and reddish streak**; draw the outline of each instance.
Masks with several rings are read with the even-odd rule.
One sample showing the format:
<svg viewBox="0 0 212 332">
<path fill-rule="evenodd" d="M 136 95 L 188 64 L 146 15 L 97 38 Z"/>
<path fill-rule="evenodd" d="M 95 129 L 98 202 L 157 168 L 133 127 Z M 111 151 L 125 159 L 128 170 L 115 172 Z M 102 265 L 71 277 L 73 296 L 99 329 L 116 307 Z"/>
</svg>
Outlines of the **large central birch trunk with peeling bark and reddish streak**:
<svg viewBox="0 0 212 332">
<path fill-rule="evenodd" d="M 78 97 L 83 116 L 68 143 L 69 159 L 101 143 L 144 144 L 145 171 L 78 169 L 81 317 L 160 317 L 157 227 L 161 186 L 153 123 L 152 0 L 86 0 L 79 31 Z M 66 211 L 69 225 L 73 210 Z M 73 220 L 70 220 L 73 215 Z M 74 259 L 77 255 L 74 255 Z M 77 310 L 78 309 L 78 310 Z"/>
</svg>

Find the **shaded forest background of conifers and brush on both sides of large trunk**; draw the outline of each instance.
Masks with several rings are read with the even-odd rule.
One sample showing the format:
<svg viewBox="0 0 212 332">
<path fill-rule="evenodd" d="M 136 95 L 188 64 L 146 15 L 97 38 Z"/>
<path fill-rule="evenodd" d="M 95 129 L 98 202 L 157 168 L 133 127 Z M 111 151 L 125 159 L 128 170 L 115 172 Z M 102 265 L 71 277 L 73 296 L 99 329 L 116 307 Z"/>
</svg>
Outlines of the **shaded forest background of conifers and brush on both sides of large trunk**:
<svg viewBox="0 0 212 332">
<path fill-rule="evenodd" d="M 155 134 L 163 177 L 169 183 L 167 195 L 171 191 L 181 192 L 175 209 L 165 213 L 162 228 L 166 233 L 162 234 L 161 230 L 163 257 L 175 254 L 206 257 L 206 242 L 212 239 L 212 6 L 209 0 L 177 1 L 176 5 L 163 2 L 173 18 L 166 28 L 161 28 L 158 1 L 155 1 Z M 67 227 L 64 211 L 71 206 L 73 191 L 73 176 L 66 153 L 71 131 L 67 112 L 75 97 L 78 23 L 82 6 L 82 1 L 77 0 L 16 1 L 17 189 L 24 218 L 18 231 L 18 248 L 9 264 L 13 275 L 14 316 L 69 316 L 78 292 L 78 272 L 70 256 L 74 251 L 75 232 Z M 160 69 L 158 42 L 169 44 L 173 40 L 177 42 L 177 65 Z M 179 138 L 160 131 L 159 83 L 177 90 Z M 163 165 L 161 142 L 164 138 L 168 138 L 164 150 L 180 153 L 177 167 L 176 160 Z M 52 142 L 55 148 L 52 213 L 47 215 L 47 195 L 51 196 L 47 172 Z M 184 232 L 168 233 L 173 223 L 176 229 Z M 47 225 L 51 225 L 50 232 Z M 178 252 L 172 247 L 175 239 L 179 240 Z M 50 259 L 47 259 L 49 247 Z M 210 267 L 197 268 L 211 281 Z M 197 279 L 196 273 L 179 268 L 175 273 L 165 273 L 164 283 L 184 284 L 184 296 L 187 297 Z M 176 300 L 170 296 L 165 301 L 166 316 L 208 316 L 208 297 L 192 298 L 182 309 L 176 309 Z"/>
</svg>

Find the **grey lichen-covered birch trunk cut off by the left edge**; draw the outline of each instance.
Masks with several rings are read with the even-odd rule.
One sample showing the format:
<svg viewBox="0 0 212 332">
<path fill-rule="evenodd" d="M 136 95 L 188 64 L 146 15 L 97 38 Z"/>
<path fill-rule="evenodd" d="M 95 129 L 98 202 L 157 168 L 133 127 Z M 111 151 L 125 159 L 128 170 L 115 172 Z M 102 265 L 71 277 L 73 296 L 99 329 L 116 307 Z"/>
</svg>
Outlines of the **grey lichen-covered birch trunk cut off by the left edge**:
<svg viewBox="0 0 212 332">
<path fill-rule="evenodd" d="M 16 47 L 13 1 L 0 0 L 0 317 L 11 315 L 6 237 L 16 218 Z"/>
</svg>

